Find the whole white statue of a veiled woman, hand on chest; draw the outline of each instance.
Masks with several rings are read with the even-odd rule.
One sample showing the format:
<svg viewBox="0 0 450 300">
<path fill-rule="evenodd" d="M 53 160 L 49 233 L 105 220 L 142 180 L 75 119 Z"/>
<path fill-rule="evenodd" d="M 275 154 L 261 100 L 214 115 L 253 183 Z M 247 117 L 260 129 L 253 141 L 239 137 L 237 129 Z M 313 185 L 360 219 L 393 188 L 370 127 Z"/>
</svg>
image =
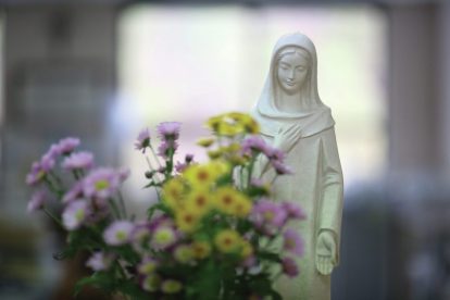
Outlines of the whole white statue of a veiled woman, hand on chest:
<svg viewBox="0 0 450 300">
<path fill-rule="evenodd" d="M 252 115 L 262 137 L 287 153 L 285 162 L 295 172 L 275 178 L 261 160 L 261 176 L 273 182 L 277 200 L 298 201 L 307 214 L 297 227 L 305 241 L 300 275 L 282 277 L 277 287 L 284 299 L 329 299 L 330 274 L 339 262 L 343 184 L 335 122 L 318 97 L 317 57 L 307 36 L 278 40 Z"/>
</svg>

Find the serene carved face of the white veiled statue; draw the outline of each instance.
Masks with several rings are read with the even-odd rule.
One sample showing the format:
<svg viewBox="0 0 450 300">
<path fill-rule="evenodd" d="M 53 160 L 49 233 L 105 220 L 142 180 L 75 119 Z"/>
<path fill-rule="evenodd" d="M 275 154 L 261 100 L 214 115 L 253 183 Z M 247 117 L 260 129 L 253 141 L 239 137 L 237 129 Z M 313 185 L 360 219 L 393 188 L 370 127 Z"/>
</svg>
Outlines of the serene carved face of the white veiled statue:
<svg viewBox="0 0 450 300">
<path fill-rule="evenodd" d="M 278 84 L 289 95 L 300 91 L 308 75 L 308 60 L 297 53 L 284 55 L 277 67 Z"/>
</svg>

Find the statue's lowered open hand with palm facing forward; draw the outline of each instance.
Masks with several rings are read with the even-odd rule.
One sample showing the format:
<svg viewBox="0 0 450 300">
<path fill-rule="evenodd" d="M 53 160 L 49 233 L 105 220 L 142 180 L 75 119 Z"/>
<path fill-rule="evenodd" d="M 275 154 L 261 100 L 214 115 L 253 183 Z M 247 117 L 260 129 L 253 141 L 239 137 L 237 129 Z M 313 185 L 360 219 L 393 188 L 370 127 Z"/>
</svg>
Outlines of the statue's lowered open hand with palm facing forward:
<svg viewBox="0 0 450 300">
<path fill-rule="evenodd" d="M 332 274 L 336 264 L 337 246 L 333 233 L 323 230 L 318 234 L 315 247 L 315 265 L 322 275 Z"/>
</svg>

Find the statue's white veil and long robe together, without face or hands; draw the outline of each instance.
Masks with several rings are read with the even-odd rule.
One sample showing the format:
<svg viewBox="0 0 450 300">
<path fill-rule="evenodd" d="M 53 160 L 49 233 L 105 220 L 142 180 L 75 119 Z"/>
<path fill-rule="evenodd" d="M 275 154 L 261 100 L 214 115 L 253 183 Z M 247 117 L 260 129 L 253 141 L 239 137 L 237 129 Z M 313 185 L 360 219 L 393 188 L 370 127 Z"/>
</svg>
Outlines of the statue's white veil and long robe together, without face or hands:
<svg viewBox="0 0 450 300">
<path fill-rule="evenodd" d="M 310 67 L 301 95 L 304 111 L 279 110 L 280 87 L 277 82 L 278 54 L 286 47 L 299 47 L 309 53 Z M 299 92 L 300 101 L 300 92 Z M 335 122 L 329 108 L 322 103 L 317 92 L 317 58 L 312 41 L 302 34 L 283 36 L 276 43 L 267 79 L 261 97 L 252 111 L 261 125 L 261 136 L 273 145 L 279 130 L 292 125 L 300 127 L 292 148 L 286 153 L 285 163 L 295 174 L 276 176 L 270 168 L 257 173 L 272 183 L 274 198 L 301 205 L 307 220 L 293 227 L 304 240 L 304 255 L 298 259 L 300 274 L 295 278 L 282 276 L 276 283 L 278 291 L 287 300 L 330 299 L 330 276 L 318 273 L 315 263 L 316 241 L 323 230 L 329 230 L 337 245 L 336 265 L 339 262 L 340 223 L 342 214 L 342 172 L 336 145 Z M 261 162 L 261 161 L 260 161 Z"/>
</svg>

